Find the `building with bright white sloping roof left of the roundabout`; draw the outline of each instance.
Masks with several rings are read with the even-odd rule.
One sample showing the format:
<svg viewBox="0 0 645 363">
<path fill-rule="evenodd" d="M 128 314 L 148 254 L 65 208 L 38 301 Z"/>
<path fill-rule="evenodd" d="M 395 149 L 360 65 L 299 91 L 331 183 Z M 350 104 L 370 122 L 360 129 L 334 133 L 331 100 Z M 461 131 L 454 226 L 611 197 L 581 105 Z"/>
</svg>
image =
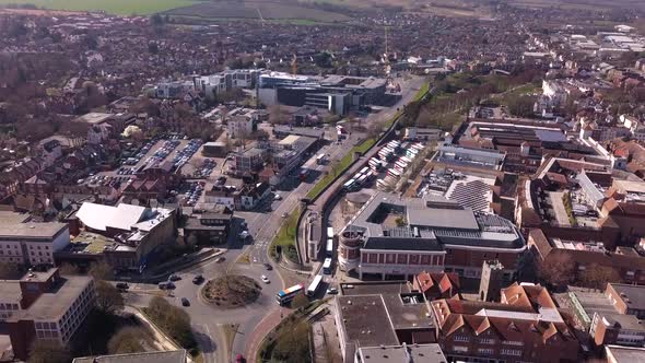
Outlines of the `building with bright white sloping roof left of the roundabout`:
<svg viewBox="0 0 645 363">
<path fill-rule="evenodd" d="M 57 260 L 95 260 L 99 254 L 115 269 L 142 271 L 160 246 L 176 242 L 175 210 L 165 208 L 84 202 L 71 224 L 84 233 Z"/>
</svg>

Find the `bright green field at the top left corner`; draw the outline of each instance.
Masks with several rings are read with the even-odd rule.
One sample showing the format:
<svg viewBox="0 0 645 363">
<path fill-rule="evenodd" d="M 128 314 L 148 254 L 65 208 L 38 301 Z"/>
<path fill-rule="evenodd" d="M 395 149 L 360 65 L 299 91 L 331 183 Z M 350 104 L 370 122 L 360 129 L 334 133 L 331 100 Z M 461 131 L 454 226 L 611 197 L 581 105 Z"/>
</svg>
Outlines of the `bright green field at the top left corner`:
<svg viewBox="0 0 645 363">
<path fill-rule="evenodd" d="M 195 4 L 191 0 L 0 0 L 0 5 L 34 4 L 42 9 L 105 11 L 117 15 L 150 15 Z"/>
</svg>

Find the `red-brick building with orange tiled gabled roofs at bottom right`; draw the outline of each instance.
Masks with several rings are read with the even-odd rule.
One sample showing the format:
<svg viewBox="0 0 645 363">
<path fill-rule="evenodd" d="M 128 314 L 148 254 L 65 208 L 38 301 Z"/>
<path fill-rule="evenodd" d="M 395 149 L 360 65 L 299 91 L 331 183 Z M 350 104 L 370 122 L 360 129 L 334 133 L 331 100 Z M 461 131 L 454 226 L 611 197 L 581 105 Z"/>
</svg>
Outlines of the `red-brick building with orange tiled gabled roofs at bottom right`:
<svg viewBox="0 0 645 363">
<path fill-rule="evenodd" d="M 576 362 L 579 344 L 547 289 L 502 289 L 501 302 L 438 300 L 430 303 L 438 343 L 455 362 Z"/>
</svg>

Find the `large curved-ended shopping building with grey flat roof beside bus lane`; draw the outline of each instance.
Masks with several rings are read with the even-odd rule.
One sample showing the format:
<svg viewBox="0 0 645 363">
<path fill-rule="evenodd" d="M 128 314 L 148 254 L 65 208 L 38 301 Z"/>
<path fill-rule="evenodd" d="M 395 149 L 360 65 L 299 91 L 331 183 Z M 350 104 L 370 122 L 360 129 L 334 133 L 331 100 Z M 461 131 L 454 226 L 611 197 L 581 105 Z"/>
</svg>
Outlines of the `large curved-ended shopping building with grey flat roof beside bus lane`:
<svg viewBox="0 0 645 363">
<path fill-rule="evenodd" d="M 397 220 L 404 221 L 401 226 Z M 497 259 L 505 277 L 526 249 L 511 221 L 442 199 L 400 198 L 378 192 L 341 231 L 342 271 L 406 278 L 427 272 L 456 272 L 478 278 L 484 260 Z"/>
</svg>

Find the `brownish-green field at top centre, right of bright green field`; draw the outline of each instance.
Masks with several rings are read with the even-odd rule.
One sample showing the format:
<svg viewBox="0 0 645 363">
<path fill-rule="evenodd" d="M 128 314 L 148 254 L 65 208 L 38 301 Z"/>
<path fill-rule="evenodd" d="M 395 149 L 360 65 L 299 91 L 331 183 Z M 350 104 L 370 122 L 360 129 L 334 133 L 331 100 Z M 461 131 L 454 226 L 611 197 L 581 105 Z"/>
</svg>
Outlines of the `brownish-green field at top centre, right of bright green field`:
<svg viewBox="0 0 645 363">
<path fill-rule="evenodd" d="M 347 22 L 351 17 L 340 12 L 326 11 L 286 1 L 208 1 L 188 8 L 167 11 L 175 16 L 202 19 L 298 20 L 319 23 Z"/>
</svg>

